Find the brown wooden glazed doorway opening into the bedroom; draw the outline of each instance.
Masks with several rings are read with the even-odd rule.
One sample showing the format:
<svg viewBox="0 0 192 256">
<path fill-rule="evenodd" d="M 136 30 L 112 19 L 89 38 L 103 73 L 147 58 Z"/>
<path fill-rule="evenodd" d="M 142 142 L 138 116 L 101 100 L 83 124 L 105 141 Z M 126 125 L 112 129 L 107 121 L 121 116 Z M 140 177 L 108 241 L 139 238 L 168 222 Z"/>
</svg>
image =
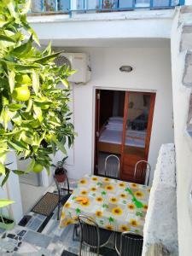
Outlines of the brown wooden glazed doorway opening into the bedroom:
<svg viewBox="0 0 192 256">
<path fill-rule="evenodd" d="M 115 154 L 120 179 L 133 181 L 137 161 L 148 160 L 154 102 L 155 93 L 96 90 L 96 175 L 105 175 L 105 160 Z"/>
</svg>

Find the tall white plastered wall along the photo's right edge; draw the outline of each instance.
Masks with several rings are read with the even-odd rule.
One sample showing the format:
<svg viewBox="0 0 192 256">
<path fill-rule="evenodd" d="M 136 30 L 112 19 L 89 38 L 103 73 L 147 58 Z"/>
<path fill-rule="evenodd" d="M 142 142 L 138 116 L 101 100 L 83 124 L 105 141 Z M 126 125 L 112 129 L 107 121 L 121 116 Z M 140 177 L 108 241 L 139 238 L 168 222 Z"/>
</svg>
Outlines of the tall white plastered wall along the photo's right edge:
<svg viewBox="0 0 192 256">
<path fill-rule="evenodd" d="M 192 6 L 176 11 L 172 26 L 172 94 L 177 171 L 179 255 L 192 239 Z"/>
</svg>

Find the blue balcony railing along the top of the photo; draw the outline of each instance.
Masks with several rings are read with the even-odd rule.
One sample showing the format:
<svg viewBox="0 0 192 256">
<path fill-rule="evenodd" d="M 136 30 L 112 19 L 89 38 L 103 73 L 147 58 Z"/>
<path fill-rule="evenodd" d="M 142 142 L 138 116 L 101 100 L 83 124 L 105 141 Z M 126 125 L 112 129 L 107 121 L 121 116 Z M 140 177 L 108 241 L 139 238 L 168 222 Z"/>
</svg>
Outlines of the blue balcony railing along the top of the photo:
<svg viewBox="0 0 192 256">
<path fill-rule="evenodd" d="M 173 9 L 184 0 L 32 0 L 32 13 L 99 13 L 134 9 Z"/>
</svg>

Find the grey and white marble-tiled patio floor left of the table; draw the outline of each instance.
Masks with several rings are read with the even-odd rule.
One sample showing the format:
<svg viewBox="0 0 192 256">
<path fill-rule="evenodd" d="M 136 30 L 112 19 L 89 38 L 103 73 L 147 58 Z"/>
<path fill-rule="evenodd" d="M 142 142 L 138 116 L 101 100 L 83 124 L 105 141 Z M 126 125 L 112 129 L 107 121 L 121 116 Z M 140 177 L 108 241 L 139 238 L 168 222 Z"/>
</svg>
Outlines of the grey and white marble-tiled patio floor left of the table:
<svg viewBox="0 0 192 256">
<path fill-rule="evenodd" d="M 49 192 L 54 190 L 54 186 L 49 188 Z M 0 255 L 61 256 L 63 250 L 78 254 L 79 241 L 73 241 L 73 225 L 60 229 L 56 213 L 57 209 L 47 223 L 44 215 L 29 212 L 31 218 L 26 226 L 16 225 L 6 232 L 0 230 Z"/>
</svg>

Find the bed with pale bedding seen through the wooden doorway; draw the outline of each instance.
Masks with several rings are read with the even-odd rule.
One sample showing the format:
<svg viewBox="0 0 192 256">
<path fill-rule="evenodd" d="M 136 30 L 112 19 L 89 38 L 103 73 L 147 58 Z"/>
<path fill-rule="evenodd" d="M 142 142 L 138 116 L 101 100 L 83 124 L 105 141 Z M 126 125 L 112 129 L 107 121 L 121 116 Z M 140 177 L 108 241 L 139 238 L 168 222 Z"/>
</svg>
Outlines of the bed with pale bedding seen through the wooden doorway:
<svg viewBox="0 0 192 256">
<path fill-rule="evenodd" d="M 137 125 L 139 124 L 139 125 Z M 123 118 L 111 117 L 102 126 L 98 141 L 99 151 L 120 154 L 123 135 Z M 125 145 L 128 150 L 144 151 L 146 138 L 145 120 L 141 117 L 127 125 Z"/>
</svg>

